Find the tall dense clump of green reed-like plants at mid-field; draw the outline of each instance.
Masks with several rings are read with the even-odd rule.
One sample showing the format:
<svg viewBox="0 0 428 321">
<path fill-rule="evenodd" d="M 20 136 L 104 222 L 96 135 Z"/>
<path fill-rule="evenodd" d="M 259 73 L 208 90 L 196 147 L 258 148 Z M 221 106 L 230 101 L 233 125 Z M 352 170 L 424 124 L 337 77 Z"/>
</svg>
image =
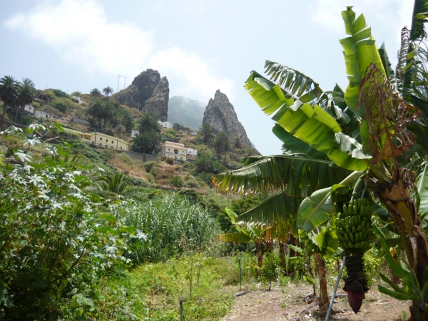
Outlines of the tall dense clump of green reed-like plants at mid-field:
<svg viewBox="0 0 428 321">
<path fill-rule="evenodd" d="M 165 260 L 175 253 L 204 248 L 218 233 L 207 210 L 176 194 L 146 203 L 123 203 L 113 213 L 146 235 L 141 242 L 130 241 L 128 256 L 134 263 Z"/>
</svg>

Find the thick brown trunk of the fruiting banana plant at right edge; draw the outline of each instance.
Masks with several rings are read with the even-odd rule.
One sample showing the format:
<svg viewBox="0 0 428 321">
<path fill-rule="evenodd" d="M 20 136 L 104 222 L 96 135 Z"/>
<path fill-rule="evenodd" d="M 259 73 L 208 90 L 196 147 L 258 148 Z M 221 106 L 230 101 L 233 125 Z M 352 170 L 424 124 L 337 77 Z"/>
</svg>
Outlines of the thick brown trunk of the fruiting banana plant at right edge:
<svg viewBox="0 0 428 321">
<path fill-rule="evenodd" d="M 416 206 L 409 195 L 409 189 L 412 187 L 410 185 L 410 182 L 405 181 L 400 175 L 390 185 L 383 185 L 379 196 L 397 225 L 407 260 L 422 287 L 424 270 L 428 266 L 428 244 Z M 413 302 L 410 308 L 412 321 L 426 320 L 425 311 L 417 308 L 418 306 Z"/>
</svg>

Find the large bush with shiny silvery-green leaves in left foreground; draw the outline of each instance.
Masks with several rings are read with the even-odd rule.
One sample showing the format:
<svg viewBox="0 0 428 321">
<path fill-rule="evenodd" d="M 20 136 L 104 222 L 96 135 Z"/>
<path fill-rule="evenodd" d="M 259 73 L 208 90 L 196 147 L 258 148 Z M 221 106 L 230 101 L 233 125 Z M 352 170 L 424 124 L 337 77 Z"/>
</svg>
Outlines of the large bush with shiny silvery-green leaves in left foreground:
<svg viewBox="0 0 428 321">
<path fill-rule="evenodd" d="M 31 158 L 41 143 L 35 129 L 44 131 L 29 128 L 15 164 L 0 161 L 0 317 L 98 319 L 101 280 L 128 265 L 124 237 L 133 229 L 85 192 L 91 172 L 61 147 L 44 146 L 41 163 Z"/>
</svg>

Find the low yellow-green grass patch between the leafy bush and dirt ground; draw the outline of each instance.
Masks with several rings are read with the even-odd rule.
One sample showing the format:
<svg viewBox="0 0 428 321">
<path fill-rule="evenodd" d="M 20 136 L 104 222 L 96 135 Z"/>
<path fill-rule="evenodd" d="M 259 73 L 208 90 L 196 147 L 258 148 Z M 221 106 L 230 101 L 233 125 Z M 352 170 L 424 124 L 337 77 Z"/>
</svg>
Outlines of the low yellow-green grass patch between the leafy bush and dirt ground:
<svg viewBox="0 0 428 321">
<path fill-rule="evenodd" d="M 230 310 L 233 295 L 239 290 L 239 287 L 228 285 L 233 281 L 229 275 L 235 275 L 234 269 L 231 258 L 204 255 L 141 265 L 129 273 L 131 292 L 144 302 L 136 315 L 153 321 L 180 320 L 179 300 L 183 297 L 185 320 L 222 320 Z M 191 299 L 190 279 L 193 285 Z"/>
</svg>

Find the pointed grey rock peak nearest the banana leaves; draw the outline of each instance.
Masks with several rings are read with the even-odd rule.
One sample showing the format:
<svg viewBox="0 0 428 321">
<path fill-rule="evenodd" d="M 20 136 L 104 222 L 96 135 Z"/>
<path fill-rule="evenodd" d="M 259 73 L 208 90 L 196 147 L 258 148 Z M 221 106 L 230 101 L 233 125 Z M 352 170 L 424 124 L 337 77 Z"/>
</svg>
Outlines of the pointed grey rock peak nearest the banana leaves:
<svg viewBox="0 0 428 321">
<path fill-rule="evenodd" d="M 230 136 L 231 141 L 238 137 L 243 146 L 252 148 L 247 133 L 243 125 L 238 121 L 238 116 L 236 116 L 235 109 L 228 96 L 219 90 L 215 92 L 214 99 L 211 98 L 208 102 L 205 113 L 203 113 L 202 123 L 209 123 L 213 128 L 213 133 L 225 131 Z"/>
</svg>

